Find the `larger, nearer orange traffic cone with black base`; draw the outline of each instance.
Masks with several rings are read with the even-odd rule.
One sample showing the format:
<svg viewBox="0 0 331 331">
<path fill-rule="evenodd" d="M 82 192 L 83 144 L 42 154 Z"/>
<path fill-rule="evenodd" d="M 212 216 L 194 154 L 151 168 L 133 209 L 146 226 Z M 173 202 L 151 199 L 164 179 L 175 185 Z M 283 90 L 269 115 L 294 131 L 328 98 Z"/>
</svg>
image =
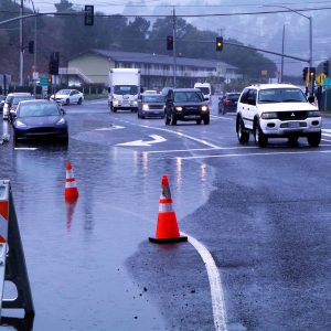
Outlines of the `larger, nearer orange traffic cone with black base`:
<svg viewBox="0 0 331 331">
<path fill-rule="evenodd" d="M 186 242 L 188 237 L 180 236 L 167 175 L 163 175 L 161 185 L 157 233 L 149 241 L 157 244 Z"/>
</svg>

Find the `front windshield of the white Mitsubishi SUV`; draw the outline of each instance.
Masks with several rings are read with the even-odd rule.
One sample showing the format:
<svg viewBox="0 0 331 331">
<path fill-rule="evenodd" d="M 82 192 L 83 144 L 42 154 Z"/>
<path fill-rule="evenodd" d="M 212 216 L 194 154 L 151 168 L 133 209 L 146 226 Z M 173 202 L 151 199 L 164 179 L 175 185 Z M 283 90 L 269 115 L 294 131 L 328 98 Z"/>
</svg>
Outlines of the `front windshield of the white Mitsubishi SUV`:
<svg viewBox="0 0 331 331">
<path fill-rule="evenodd" d="M 259 92 L 258 103 L 307 103 L 307 99 L 300 88 L 268 88 Z"/>
</svg>

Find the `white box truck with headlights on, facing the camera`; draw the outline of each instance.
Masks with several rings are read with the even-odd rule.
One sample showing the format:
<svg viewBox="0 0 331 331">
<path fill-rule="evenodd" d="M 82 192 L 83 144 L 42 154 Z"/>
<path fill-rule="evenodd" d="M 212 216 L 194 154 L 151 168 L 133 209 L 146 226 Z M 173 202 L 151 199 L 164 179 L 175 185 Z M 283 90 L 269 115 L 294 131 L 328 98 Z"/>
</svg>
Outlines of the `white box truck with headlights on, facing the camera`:
<svg viewBox="0 0 331 331">
<path fill-rule="evenodd" d="M 110 111 L 124 109 L 137 113 L 140 97 L 140 70 L 111 68 L 108 92 Z"/>
</svg>

